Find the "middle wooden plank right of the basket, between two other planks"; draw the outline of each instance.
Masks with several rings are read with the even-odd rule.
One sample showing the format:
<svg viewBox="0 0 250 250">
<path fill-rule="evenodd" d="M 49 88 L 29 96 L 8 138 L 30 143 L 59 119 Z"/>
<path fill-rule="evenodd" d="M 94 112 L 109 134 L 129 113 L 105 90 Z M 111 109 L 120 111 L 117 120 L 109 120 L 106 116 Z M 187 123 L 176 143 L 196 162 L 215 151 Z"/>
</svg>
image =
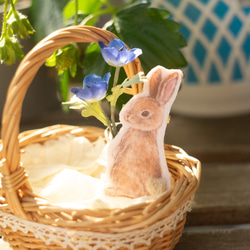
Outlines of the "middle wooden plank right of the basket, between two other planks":
<svg viewBox="0 0 250 250">
<path fill-rule="evenodd" d="M 187 225 L 250 223 L 250 163 L 204 164 Z"/>
</svg>

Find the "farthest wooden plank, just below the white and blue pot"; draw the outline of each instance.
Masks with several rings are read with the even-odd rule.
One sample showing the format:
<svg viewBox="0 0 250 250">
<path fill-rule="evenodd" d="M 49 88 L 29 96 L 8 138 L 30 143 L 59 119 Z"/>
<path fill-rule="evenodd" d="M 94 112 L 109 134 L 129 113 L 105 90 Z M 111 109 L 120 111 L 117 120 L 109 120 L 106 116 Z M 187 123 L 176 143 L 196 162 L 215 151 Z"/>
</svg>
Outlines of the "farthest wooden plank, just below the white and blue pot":
<svg viewBox="0 0 250 250">
<path fill-rule="evenodd" d="M 172 115 L 165 142 L 202 162 L 250 162 L 250 114 L 227 118 Z"/>
</svg>

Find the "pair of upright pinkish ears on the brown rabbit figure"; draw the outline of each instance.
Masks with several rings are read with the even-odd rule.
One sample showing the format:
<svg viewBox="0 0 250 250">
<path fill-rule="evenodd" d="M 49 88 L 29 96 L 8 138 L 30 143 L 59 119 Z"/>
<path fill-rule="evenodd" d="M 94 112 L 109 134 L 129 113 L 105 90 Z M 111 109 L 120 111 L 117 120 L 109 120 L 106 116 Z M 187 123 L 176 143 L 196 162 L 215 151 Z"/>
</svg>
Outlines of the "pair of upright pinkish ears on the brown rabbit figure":
<svg viewBox="0 0 250 250">
<path fill-rule="evenodd" d="M 157 67 L 149 77 L 149 95 L 159 102 L 167 103 L 175 92 L 179 76 L 179 71 Z"/>
</svg>

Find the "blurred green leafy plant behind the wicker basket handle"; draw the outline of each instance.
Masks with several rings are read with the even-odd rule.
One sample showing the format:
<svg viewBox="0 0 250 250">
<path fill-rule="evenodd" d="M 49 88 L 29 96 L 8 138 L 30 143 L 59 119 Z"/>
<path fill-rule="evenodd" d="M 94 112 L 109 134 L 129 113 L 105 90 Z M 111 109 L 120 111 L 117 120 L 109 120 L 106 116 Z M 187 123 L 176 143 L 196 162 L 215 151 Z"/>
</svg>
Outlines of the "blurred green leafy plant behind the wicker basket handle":
<svg viewBox="0 0 250 250">
<path fill-rule="evenodd" d="M 8 2 L 14 9 L 17 0 L 4 0 L 5 6 Z M 5 13 L 7 13 L 7 7 L 5 9 Z M 186 60 L 180 51 L 186 46 L 186 41 L 178 32 L 180 25 L 170 20 L 169 14 L 167 10 L 151 8 L 150 1 L 33 0 L 31 23 L 36 30 L 36 41 L 58 28 L 69 25 L 103 27 L 115 33 L 129 47 L 138 47 L 143 50 L 140 60 L 147 73 L 156 65 L 166 68 L 186 66 Z M 4 15 L 6 27 L 8 26 L 8 15 Z M 103 17 L 107 21 L 103 21 Z M 6 36 L 4 27 L 3 25 L 2 34 Z M 27 33 L 31 34 L 31 29 L 28 29 Z M 2 62 L 9 63 L 10 61 L 3 60 L 1 48 L 12 46 L 19 59 L 23 56 L 16 38 L 17 34 L 11 34 L 11 39 L 15 41 L 14 45 L 3 44 L 3 40 L 1 40 Z M 77 79 L 82 81 L 85 75 L 95 73 L 103 76 L 106 72 L 114 72 L 114 69 L 102 60 L 98 44 L 69 44 L 57 50 L 47 60 L 46 65 L 55 66 L 58 70 L 63 101 L 68 99 L 71 77 L 78 76 Z M 122 77 L 124 78 L 124 75 Z M 123 96 L 120 99 L 126 102 L 129 97 Z"/>
</svg>

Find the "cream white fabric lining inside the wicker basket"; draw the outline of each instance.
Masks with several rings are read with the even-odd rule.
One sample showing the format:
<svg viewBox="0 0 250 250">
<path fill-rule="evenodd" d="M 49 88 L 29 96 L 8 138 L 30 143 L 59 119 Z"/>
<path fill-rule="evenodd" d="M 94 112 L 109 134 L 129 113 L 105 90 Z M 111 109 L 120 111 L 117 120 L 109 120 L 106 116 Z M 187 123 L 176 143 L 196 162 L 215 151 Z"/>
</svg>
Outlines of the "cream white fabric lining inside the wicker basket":
<svg viewBox="0 0 250 250">
<path fill-rule="evenodd" d="M 129 199 L 104 195 L 106 144 L 70 134 L 22 149 L 21 160 L 34 192 L 52 203 L 77 208 L 122 208 L 155 197 Z"/>
</svg>

